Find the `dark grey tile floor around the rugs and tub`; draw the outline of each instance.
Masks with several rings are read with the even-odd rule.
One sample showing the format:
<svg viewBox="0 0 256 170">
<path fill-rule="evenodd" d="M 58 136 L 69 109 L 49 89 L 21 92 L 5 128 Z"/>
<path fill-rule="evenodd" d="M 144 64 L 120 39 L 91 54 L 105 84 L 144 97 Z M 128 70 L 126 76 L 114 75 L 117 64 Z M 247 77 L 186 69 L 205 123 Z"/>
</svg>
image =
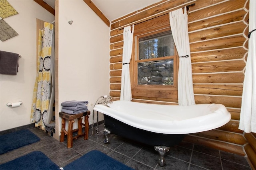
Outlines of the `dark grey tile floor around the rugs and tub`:
<svg viewBox="0 0 256 170">
<path fill-rule="evenodd" d="M 73 147 L 70 149 L 66 147 L 66 140 L 60 143 L 36 127 L 30 128 L 30 131 L 41 140 L 2 154 L 1 164 L 38 150 L 58 166 L 64 167 L 90 150 L 100 150 L 136 170 L 251 170 L 243 156 L 184 141 L 170 148 L 170 152 L 165 156 L 166 166 L 160 167 L 157 163 L 158 153 L 153 147 L 127 141 L 116 135 L 110 135 L 110 142 L 104 144 L 103 125 L 100 125 L 100 132 L 94 136 L 89 135 L 88 140 L 83 140 L 82 137 L 74 140 Z M 91 131 L 89 132 L 91 134 Z"/>
</svg>

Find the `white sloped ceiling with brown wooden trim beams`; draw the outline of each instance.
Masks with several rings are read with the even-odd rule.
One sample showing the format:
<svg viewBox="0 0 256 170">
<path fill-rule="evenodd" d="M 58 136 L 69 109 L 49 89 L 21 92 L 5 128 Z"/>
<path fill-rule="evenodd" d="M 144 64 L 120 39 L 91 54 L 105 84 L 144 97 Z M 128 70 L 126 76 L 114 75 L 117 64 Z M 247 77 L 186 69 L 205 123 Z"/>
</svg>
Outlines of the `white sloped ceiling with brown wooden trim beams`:
<svg viewBox="0 0 256 170">
<path fill-rule="evenodd" d="M 55 0 L 34 1 L 54 14 Z M 84 0 L 108 26 L 112 20 L 160 1 L 161 0 Z"/>
</svg>

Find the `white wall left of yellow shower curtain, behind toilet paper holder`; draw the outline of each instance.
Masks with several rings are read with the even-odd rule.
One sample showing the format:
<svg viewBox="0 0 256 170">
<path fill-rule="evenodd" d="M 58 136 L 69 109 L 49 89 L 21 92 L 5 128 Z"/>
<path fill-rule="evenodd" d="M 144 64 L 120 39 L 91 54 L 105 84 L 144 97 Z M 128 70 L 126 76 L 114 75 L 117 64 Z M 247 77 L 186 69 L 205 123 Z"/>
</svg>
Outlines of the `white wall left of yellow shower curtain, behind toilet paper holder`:
<svg viewBox="0 0 256 170">
<path fill-rule="evenodd" d="M 36 18 L 48 22 L 55 17 L 33 0 L 8 0 L 19 14 L 4 20 L 19 34 L 4 42 L 0 50 L 18 53 L 17 75 L 0 74 L 0 131 L 28 125 L 32 93 L 36 78 Z M 8 102 L 22 101 L 20 107 L 7 107 Z"/>
</svg>

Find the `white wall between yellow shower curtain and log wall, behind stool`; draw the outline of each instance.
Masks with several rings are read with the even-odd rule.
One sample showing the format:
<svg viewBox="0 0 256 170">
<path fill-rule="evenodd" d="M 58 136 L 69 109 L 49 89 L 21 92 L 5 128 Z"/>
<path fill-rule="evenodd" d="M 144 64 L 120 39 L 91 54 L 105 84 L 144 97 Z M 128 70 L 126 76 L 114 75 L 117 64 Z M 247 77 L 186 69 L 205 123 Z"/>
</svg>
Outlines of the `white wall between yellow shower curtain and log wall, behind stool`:
<svg viewBox="0 0 256 170">
<path fill-rule="evenodd" d="M 109 94 L 110 29 L 83 0 L 59 0 L 58 15 L 59 109 L 68 100 L 87 100 L 92 124 L 94 103 Z M 73 20 L 72 25 L 68 20 Z M 61 119 L 56 125 L 59 132 L 60 126 Z"/>
</svg>

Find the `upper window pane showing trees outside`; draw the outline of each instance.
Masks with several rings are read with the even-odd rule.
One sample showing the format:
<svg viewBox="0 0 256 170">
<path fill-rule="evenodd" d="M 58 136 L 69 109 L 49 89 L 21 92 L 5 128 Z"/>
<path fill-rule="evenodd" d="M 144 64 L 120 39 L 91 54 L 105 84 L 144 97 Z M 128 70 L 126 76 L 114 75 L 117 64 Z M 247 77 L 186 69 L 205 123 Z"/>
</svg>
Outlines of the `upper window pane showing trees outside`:
<svg viewBox="0 0 256 170">
<path fill-rule="evenodd" d="M 139 60 L 174 55 L 174 41 L 171 31 L 139 38 Z"/>
</svg>

